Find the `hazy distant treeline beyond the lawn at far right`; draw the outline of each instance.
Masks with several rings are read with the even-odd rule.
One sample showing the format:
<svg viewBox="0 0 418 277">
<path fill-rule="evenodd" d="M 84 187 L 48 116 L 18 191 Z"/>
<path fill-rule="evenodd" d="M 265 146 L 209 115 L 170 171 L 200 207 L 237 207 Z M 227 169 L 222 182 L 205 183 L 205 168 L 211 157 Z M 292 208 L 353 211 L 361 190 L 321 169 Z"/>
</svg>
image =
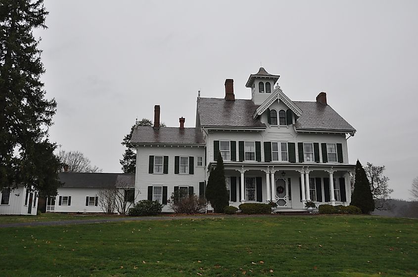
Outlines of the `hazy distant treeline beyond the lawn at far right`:
<svg viewBox="0 0 418 277">
<path fill-rule="evenodd" d="M 418 201 L 406 201 L 401 199 L 388 199 L 386 201 L 389 207 L 388 210 L 374 210 L 372 214 L 390 217 L 418 218 Z"/>
</svg>

